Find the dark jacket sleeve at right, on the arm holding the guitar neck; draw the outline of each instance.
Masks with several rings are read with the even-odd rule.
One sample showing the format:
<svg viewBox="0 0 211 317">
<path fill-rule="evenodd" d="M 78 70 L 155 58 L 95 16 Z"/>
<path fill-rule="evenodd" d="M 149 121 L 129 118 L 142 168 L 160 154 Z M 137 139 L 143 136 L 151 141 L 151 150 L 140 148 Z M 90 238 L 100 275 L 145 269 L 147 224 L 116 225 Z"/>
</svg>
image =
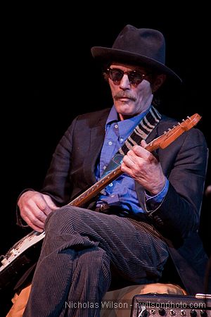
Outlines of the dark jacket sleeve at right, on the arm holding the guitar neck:
<svg viewBox="0 0 211 317">
<path fill-rule="evenodd" d="M 198 129 L 184 133 L 159 158 L 170 187 L 159 208 L 148 217 L 167 237 L 184 238 L 198 230 L 208 149 Z"/>
</svg>

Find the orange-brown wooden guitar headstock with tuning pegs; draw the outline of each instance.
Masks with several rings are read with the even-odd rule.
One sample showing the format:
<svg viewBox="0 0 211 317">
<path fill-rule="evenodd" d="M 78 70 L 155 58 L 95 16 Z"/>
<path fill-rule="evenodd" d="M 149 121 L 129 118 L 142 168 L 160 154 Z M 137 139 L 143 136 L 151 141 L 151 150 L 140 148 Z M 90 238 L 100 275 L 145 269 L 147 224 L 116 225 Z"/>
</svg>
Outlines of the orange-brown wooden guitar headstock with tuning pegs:
<svg viewBox="0 0 211 317">
<path fill-rule="evenodd" d="M 164 132 L 163 135 L 154 139 L 153 142 L 146 146 L 148 151 L 154 151 L 160 147 L 161 149 L 165 149 L 168 145 L 170 145 L 174 139 L 177 139 L 179 135 L 182 135 L 185 131 L 190 130 L 194 127 L 200 120 L 201 116 L 198 113 L 195 113 L 191 117 L 187 117 L 186 120 L 182 120 L 178 125 L 174 125 L 172 129 L 169 129 Z"/>
</svg>

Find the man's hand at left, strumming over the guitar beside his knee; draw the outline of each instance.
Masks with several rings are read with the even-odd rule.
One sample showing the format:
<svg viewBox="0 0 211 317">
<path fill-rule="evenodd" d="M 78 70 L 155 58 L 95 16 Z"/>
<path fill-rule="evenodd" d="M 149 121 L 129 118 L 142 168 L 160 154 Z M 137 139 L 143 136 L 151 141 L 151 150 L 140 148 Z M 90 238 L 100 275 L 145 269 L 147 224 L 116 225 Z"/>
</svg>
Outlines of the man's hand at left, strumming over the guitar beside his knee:
<svg viewBox="0 0 211 317">
<path fill-rule="evenodd" d="M 44 222 L 51 211 L 58 209 L 49 195 L 28 190 L 18 199 L 20 216 L 37 232 L 44 230 Z"/>
</svg>

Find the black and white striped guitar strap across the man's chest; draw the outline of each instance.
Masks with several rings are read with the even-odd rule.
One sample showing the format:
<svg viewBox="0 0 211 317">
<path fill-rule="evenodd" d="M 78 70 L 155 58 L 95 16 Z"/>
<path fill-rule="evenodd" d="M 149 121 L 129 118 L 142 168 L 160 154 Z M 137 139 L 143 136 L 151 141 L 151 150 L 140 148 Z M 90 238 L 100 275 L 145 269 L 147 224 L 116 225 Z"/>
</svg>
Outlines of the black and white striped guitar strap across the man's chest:
<svg viewBox="0 0 211 317">
<path fill-rule="evenodd" d="M 141 144 L 142 139 L 146 139 L 152 130 L 158 125 L 161 119 L 161 115 L 158 110 L 152 106 L 148 113 L 141 119 L 133 132 L 126 139 L 122 147 L 118 149 L 113 159 L 110 160 L 106 170 L 104 170 L 102 177 L 110 173 L 111 170 L 117 168 L 122 163 L 122 158 L 127 152 L 134 147 L 136 144 Z"/>
</svg>

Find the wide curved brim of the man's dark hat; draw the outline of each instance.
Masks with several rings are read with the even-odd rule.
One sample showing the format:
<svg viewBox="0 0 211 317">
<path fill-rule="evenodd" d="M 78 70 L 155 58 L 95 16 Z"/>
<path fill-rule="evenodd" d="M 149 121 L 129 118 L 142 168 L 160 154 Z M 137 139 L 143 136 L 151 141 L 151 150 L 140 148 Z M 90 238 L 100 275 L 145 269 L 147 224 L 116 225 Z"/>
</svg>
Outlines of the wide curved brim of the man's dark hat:
<svg viewBox="0 0 211 317">
<path fill-rule="evenodd" d="M 162 63 L 155 61 L 153 58 L 149 58 L 147 56 L 134 54 L 129 51 L 122 51 L 121 49 L 109 49 L 108 47 L 102 46 L 94 46 L 91 48 L 91 54 L 101 63 L 108 62 L 123 62 L 123 63 L 132 63 L 135 65 L 146 66 L 153 70 L 157 70 L 159 73 L 164 73 L 174 78 L 175 80 L 179 80 L 182 82 L 181 78 L 174 73 L 173 70 L 168 68 Z"/>
</svg>

